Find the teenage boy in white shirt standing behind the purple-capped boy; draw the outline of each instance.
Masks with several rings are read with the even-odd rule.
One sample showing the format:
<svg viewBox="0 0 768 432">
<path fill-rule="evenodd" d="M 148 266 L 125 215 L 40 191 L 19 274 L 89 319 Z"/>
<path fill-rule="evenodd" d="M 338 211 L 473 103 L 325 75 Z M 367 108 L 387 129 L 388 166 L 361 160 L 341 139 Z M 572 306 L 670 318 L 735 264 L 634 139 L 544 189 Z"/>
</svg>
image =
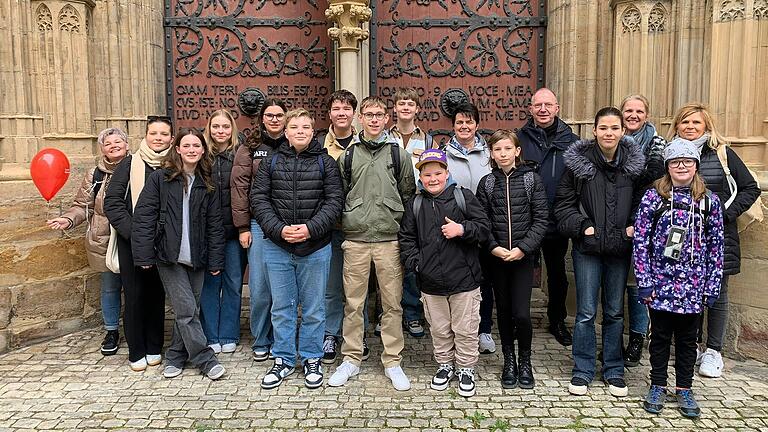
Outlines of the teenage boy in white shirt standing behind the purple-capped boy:
<svg viewBox="0 0 768 432">
<path fill-rule="evenodd" d="M 401 147 L 408 150 L 415 166 L 424 150 L 432 148 L 432 136 L 416 126 L 416 114 L 421 109 L 419 93 L 413 87 L 399 88 L 395 91 L 395 124 L 389 129 L 389 134 Z M 415 173 L 418 175 L 418 173 Z M 405 329 L 413 337 L 424 336 L 421 320 L 424 318 L 419 287 L 416 285 L 416 275 L 406 272 L 403 277 L 403 319 Z"/>
</svg>

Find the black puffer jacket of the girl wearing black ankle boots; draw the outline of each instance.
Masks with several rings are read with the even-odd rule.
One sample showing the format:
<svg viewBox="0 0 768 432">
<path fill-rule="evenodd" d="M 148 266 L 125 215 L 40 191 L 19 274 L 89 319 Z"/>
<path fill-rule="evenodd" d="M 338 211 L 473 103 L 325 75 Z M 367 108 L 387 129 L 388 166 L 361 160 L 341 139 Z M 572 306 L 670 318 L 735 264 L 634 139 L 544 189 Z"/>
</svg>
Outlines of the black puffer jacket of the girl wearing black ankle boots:
<svg viewBox="0 0 768 432">
<path fill-rule="evenodd" d="M 541 177 L 534 172 L 536 164 L 521 165 L 505 174 L 499 168 L 480 180 L 477 198 L 491 221 L 488 250 L 495 247 L 520 248 L 526 255 L 539 249 L 549 225 L 549 205 Z M 533 178 L 531 198 L 525 187 L 525 173 Z M 493 180 L 489 180 L 493 177 Z M 490 183 L 493 189 L 488 190 Z"/>
</svg>

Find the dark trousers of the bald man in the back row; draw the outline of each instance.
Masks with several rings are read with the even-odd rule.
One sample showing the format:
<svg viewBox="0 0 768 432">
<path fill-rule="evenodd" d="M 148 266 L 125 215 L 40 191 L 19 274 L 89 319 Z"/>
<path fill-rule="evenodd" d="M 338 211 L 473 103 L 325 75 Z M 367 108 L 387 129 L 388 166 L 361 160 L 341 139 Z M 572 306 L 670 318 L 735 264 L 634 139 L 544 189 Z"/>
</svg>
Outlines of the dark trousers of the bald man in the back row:
<svg viewBox="0 0 768 432">
<path fill-rule="evenodd" d="M 565 320 L 568 310 L 565 301 L 568 297 L 568 277 L 565 274 L 565 254 L 568 253 L 568 238 L 560 236 L 545 237 L 541 242 L 541 255 L 547 266 L 547 318 L 554 324 Z"/>
</svg>

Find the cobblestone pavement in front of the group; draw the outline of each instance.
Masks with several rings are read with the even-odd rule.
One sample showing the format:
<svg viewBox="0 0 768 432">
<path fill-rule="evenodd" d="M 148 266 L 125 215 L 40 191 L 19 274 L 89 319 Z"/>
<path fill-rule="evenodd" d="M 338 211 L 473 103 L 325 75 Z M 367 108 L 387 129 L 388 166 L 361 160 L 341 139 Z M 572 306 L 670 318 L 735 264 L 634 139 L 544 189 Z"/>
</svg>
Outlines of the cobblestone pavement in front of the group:
<svg viewBox="0 0 768 432">
<path fill-rule="evenodd" d="M 642 409 L 647 358 L 627 373 L 626 398 L 610 396 L 597 380 L 588 396 L 570 396 L 570 349 L 543 330 L 543 315 L 542 308 L 534 309 L 536 388 L 501 388 L 499 348 L 481 356 L 477 395 L 469 399 L 455 388 L 429 388 L 435 364 L 428 337 L 406 336 L 403 366 L 413 386 L 408 392 L 395 391 L 384 377 L 377 360 L 381 343 L 372 336 L 371 358 L 345 387 L 308 390 L 294 374 L 268 391 L 259 387 L 268 364 L 251 360 L 248 338 L 235 353 L 219 355 L 227 375 L 212 382 L 193 369 L 172 380 L 162 377 L 161 367 L 132 372 L 124 342 L 117 355 L 103 357 L 102 331 L 82 331 L 0 356 L 0 431 L 768 431 L 768 369 L 754 361 L 727 360 L 724 378 L 696 378 L 703 410 L 698 421 L 682 418 L 675 403 L 661 416 Z"/>
</svg>

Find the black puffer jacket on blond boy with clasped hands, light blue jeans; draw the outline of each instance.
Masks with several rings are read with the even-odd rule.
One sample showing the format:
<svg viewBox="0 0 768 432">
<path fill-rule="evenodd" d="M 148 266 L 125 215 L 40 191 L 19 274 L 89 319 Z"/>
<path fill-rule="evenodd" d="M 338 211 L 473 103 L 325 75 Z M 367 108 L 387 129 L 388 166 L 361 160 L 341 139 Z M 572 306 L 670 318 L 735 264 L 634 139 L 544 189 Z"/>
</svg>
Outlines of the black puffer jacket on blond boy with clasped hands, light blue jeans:
<svg viewBox="0 0 768 432">
<path fill-rule="evenodd" d="M 259 165 L 251 188 L 251 214 L 272 242 L 307 256 L 331 241 L 343 200 L 339 167 L 328 151 L 313 140 L 297 154 L 286 143 Z M 283 228 L 298 224 L 307 225 L 309 239 L 301 243 L 283 240 Z"/>
</svg>

